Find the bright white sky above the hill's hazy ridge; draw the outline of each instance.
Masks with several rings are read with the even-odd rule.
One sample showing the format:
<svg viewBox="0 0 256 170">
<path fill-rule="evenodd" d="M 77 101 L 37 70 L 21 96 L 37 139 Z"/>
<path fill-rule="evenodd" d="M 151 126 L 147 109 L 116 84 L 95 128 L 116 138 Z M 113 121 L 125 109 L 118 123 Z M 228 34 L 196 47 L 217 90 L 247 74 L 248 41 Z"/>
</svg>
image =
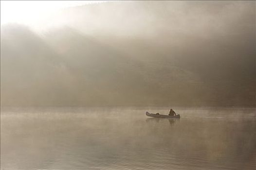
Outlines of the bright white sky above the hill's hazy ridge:
<svg viewBox="0 0 256 170">
<path fill-rule="evenodd" d="M 91 3 L 101 3 L 106 0 L 1 0 L 1 24 L 17 22 L 36 26 L 45 22 L 55 12 L 67 7 Z"/>
</svg>

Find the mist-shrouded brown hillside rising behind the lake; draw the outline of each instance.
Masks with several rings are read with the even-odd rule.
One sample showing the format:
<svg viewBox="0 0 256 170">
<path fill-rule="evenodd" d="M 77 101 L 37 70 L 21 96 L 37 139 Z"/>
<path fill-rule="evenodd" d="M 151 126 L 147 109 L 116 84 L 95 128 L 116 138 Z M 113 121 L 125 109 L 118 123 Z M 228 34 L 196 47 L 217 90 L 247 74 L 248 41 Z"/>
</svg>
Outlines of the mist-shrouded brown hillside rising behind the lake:
<svg viewBox="0 0 256 170">
<path fill-rule="evenodd" d="M 256 106 L 251 3 L 107 2 L 43 34 L 3 25 L 1 105 Z"/>
</svg>

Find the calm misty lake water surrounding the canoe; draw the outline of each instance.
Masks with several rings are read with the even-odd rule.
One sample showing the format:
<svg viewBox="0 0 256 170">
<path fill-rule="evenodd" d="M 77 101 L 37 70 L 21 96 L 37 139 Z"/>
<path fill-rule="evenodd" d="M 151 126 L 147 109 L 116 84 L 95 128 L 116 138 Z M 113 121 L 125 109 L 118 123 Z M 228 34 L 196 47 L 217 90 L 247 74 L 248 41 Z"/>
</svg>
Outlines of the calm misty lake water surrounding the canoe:
<svg viewBox="0 0 256 170">
<path fill-rule="evenodd" d="M 1 110 L 1 170 L 256 170 L 256 109 Z"/>
</svg>

